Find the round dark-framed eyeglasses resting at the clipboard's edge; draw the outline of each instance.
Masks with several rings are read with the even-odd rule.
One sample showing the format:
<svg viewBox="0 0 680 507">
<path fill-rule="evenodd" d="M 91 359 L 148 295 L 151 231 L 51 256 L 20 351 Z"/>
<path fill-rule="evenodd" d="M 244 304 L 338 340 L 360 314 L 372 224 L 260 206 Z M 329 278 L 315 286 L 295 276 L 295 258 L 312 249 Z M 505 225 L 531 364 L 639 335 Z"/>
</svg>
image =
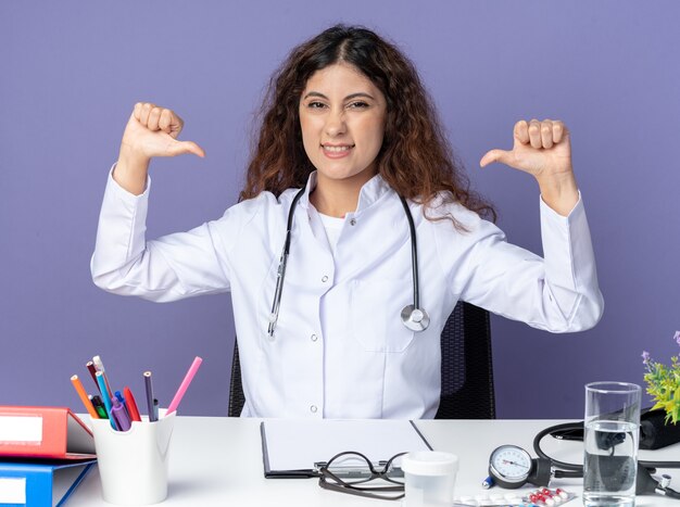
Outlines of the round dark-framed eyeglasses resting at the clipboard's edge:
<svg viewBox="0 0 680 507">
<path fill-rule="evenodd" d="M 336 454 L 328 462 L 318 468 L 318 485 L 325 490 L 348 493 L 379 499 L 400 499 L 404 497 L 404 481 L 400 468 L 394 466 L 396 458 L 406 453 L 380 461 L 378 468 L 362 453 L 348 451 Z M 379 479 L 394 485 L 366 485 Z"/>
</svg>

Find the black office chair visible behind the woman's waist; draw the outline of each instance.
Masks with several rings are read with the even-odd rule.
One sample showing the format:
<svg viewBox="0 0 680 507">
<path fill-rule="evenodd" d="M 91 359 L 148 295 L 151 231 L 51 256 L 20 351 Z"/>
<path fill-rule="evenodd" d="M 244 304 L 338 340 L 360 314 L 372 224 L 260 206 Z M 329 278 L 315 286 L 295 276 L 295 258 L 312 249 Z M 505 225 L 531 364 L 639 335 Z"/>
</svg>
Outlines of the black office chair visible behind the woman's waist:
<svg viewBox="0 0 680 507">
<path fill-rule="evenodd" d="M 436 419 L 495 419 L 489 312 L 459 302 L 441 333 L 441 396 Z M 229 416 L 245 403 L 238 343 L 234 343 Z"/>
</svg>

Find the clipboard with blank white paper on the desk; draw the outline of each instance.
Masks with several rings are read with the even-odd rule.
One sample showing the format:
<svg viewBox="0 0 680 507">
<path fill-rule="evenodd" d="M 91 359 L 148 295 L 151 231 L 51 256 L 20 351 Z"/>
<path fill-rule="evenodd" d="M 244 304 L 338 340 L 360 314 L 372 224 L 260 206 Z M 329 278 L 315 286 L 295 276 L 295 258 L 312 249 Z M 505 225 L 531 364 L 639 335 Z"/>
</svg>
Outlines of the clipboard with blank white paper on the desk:
<svg viewBox="0 0 680 507">
<path fill-rule="evenodd" d="M 317 464 L 344 451 L 357 451 L 375 462 L 395 454 L 432 451 L 411 420 L 267 419 L 260 423 L 264 477 L 318 477 Z"/>
</svg>

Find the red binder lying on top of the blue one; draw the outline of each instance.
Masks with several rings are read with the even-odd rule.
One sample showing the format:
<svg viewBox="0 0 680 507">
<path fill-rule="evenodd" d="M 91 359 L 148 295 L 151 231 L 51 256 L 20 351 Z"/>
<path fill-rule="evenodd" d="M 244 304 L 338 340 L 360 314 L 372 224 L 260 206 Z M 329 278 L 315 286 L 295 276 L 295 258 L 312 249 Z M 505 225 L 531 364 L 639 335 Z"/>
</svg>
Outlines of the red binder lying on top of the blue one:
<svg viewBox="0 0 680 507">
<path fill-rule="evenodd" d="M 66 407 L 0 406 L 0 456 L 92 459 L 95 439 Z"/>
</svg>

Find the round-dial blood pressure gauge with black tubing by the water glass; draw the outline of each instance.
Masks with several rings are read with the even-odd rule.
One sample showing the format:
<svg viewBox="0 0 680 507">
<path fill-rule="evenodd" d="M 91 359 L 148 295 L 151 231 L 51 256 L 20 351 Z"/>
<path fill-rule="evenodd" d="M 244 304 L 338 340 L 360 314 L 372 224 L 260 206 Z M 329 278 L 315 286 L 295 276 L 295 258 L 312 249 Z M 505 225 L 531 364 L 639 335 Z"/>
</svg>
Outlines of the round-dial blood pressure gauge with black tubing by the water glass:
<svg viewBox="0 0 680 507">
<path fill-rule="evenodd" d="M 496 447 L 489 457 L 489 479 L 482 485 L 490 487 L 498 484 L 514 490 L 527 483 L 547 486 L 552 479 L 583 477 L 582 465 L 559 461 L 541 448 L 541 441 L 549 434 L 562 440 L 582 440 L 582 436 L 576 436 L 579 430 L 581 432 L 583 430 L 582 422 L 556 424 L 540 431 L 533 439 L 533 449 L 538 458 L 532 458 L 527 451 L 517 445 L 506 444 Z M 566 435 L 570 433 L 575 433 L 575 436 L 567 438 Z M 616 445 L 617 442 L 609 444 Z M 663 476 L 659 481 L 652 477 L 657 468 L 680 468 L 680 462 L 639 460 L 635 493 L 639 495 L 656 493 L 680 499 L 680 493 L 669 487 L 669 476 Z"/>
</svg>

